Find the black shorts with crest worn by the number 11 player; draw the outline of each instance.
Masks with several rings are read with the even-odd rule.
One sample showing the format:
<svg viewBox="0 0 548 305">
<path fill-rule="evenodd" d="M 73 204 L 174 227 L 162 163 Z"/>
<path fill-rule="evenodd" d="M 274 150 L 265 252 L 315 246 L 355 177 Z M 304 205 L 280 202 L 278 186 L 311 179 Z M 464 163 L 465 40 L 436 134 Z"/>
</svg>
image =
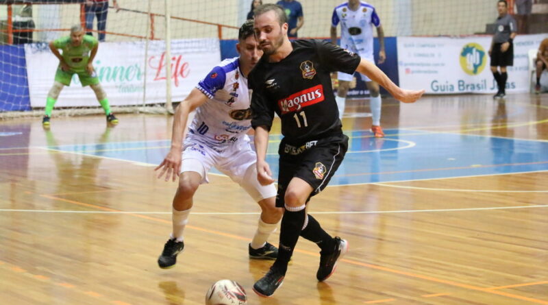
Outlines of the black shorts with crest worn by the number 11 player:
<svg viewBox="0 0 548 305">
<path fill-rule="evenodd" d="M 342 133 L 301 145 L 288 145 L 282 140 L 278 149 L 279 174 L 276 206 L 284 207 L 286 189 L 294 177 L 301 178 L 314 188 L 310 197 L 320 193 L 343 162 L 347 150 L 348 137 Z"/>
</svg>

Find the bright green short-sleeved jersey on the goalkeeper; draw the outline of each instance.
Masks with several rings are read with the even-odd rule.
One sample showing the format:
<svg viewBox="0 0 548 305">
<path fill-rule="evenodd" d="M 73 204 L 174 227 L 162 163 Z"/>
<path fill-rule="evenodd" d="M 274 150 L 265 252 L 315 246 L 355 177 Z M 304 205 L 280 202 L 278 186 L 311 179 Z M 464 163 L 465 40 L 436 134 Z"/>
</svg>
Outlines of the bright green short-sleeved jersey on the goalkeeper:
<svg viewBox="0 0 548 305">
<path fill-rule="evenodd" d="M 71 36 L 61 37 L 53 41 L 53 46 L 62 50 L 64 62 L 71 67 L 74 72 L 86 71 L 90 59 L 90 51 L 99 44 L 97 38 L 90 35 L 84 35 L 82 44 L 75 47 L 72 45 Z"/>
</svg>

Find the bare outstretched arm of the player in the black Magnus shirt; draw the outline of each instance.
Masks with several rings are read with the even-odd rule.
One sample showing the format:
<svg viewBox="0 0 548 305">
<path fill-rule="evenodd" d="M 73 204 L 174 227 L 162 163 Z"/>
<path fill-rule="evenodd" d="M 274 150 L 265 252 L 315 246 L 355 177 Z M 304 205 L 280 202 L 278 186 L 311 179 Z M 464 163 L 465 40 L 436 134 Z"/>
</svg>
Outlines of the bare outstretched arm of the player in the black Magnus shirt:
<svg viewBox="0 0 548 305">
<path fill-rule="evenodd" d="M 383 71 L 381 71 L 381 69 L 377 68 L 373 62 L 369 62 L 363 58 L 356 71 L 367 75 L 367 77 L 371 80 L 377 82 L 377 84 L 388 90 L 388 92 L 395 97 L 395 99 L 403 101 L 403 103 L 413 103 L 424 93 L 424 90 L 404 90 L 399 88 L 390 80 L 390 78 L 388 78 L 388 76 L 386 76 L 386 74 L 384 74 Z"/>
</svg>

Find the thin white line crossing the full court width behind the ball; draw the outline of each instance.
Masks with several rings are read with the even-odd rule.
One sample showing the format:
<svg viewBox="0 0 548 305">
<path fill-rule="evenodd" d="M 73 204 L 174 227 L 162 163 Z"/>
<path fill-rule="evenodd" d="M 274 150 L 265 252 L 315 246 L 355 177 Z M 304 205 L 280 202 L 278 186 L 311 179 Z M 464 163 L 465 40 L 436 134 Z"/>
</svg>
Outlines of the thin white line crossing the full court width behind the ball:
<svg viewBox="0 0 548 305">
<path fill-rule="evenodd" d="M 548 208 L 546 204 L 534 206 L 494 206 L 491 208 L 443 208 L 437 210 L 378 210 L 378 211 L 334 211 L 334 212 L 310 212 L 310 214 L 325 215 L 352 215 L 352 214 L 397 214 L 397 213 L 416 213 L 416 212 L 462 212 L 471 210 L 508 210 L 514 208 Z M 76 214 L 157 214 L 171 215 L 171 212 L 124 212 L 124 211 L 99 211 L 99 210 L 15 210 L 1 208 L 0 212 L 45 212 L 45 213 L 76 213 Z M 192 212 L 192 215 L 260 215 L 260 212 Z"/>
</svg>

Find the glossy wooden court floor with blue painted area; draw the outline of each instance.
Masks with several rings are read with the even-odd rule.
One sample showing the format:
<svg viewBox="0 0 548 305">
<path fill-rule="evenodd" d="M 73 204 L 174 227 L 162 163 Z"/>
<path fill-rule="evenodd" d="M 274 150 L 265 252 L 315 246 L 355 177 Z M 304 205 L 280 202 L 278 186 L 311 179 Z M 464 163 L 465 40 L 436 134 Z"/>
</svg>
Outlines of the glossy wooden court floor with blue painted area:
<svg viewBox="0 0 548 305">
<path fill-rule="evenodd" d="M 349 154 L 309 206 L 349 253 L 318 283 L 300 240 L 267 299 L 251 287 L 271 262 L 247 258 L 258 206 L 221 175 L 197 191 L 177 265 L 158 268 L 171 117 L 0 120 L 0 304 L 195 305 L 223 278 L 248 304 L 548 304 L 548 95 L 385 99 L 381 142 L 368 110 L 348 103 Z"/>
</svg>

